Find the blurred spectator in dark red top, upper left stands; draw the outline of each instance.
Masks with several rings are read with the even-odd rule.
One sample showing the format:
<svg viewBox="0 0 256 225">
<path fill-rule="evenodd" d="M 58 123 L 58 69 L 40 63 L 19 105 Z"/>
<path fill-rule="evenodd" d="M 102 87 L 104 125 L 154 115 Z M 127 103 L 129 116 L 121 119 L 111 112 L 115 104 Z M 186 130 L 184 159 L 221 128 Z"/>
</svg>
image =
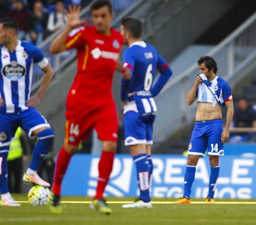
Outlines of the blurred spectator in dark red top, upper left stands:
<svg viewBox="0 0 256 225">
<path fill-rule="evenodd" d="M 6 14 L 8 17 L 13 17 L 18 23 L 18 39 L 24 40 L 26 31 L 29 12 L 25 7 L 22 0 L 15 0 L 12 4 L 10 11 Z"/>
</svg>

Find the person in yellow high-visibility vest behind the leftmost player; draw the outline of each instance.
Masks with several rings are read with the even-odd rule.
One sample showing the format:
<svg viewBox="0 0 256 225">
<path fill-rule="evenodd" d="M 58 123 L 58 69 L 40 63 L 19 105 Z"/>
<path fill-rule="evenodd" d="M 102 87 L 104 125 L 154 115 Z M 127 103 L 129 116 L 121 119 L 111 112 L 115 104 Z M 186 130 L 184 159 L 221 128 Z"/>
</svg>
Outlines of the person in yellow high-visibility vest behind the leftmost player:
<svg viewBox="0 0 256 225">
<path fill-rule="evenodd" d="M 21 193 L 23 157 L 27 158 L 28 141 L 25 131 L 18 127 L 10 144 L 7 157 L 8 188 L 11 193 Z M 24 155 L 23 155 L 24 154 Z"/>
</svg>

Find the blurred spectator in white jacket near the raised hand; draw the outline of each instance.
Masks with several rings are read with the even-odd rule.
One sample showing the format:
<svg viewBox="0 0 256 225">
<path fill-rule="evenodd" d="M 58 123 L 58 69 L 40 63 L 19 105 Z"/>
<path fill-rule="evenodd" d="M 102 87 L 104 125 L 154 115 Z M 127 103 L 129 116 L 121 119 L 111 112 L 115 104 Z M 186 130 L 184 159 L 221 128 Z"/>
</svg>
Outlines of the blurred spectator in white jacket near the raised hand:
<svg viewBox="0 0 256 225">
<path fill-rule="evenodd" d="M 48 19 L 48 31 L 57 31 L 67 23 L 67 16 L 64 13 L 64 5 L 64 1 L 56 1 L 55 10 L 50 14 Z"/>
</svg>

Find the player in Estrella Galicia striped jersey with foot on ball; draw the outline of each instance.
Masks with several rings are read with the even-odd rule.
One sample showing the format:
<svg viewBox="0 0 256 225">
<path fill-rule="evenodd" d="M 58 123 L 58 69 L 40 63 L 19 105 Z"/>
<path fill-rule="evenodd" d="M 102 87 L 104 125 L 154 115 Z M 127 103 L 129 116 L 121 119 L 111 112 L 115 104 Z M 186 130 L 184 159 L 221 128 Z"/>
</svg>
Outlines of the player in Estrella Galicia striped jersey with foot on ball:
<svg viewBox="0 0 256 225">
<path fill-rule="evenodd" d="M 17 22 L 13 18 L 0 19 L 0 192 L 1 205 L 5 206 L 20 206 L 7 185 L 7 155 L 17 128 L 22 127 L 29 137 L 39 138 L 23 176 L 25 183 L 50 186 L 37 175 L 37 169 L 54 137 L 49 123 L 34 108 L 50 84 L 53 69 L 40 49 L 17 39 L 17 31 Z M 30 97 L 33 62 L 43 70 L 44 76 L 36 95 Z"/>
</svg>

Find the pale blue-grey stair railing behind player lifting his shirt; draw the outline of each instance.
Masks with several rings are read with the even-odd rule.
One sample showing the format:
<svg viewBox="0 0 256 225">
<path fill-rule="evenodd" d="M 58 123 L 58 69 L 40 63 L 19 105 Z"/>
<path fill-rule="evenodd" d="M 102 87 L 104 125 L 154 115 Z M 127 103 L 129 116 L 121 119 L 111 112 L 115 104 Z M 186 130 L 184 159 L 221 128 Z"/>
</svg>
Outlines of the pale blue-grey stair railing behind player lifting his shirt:
<svg viewBox="0 0 256 225">
<path fill-rule="evenodd" d="M 256 63 L 256 13 L 205 55 L 217 61 L 217 75 L 228 81 L 231 87 L 235 85 L 235 78 Z M 158 116 L 154 123 L 154 140 L 160 140 L 194 120 L 197 104 L 188 106 L 186 95 L 198 72 L 195 63 L 169 82 L 156 97 Z"/>
</svg>

